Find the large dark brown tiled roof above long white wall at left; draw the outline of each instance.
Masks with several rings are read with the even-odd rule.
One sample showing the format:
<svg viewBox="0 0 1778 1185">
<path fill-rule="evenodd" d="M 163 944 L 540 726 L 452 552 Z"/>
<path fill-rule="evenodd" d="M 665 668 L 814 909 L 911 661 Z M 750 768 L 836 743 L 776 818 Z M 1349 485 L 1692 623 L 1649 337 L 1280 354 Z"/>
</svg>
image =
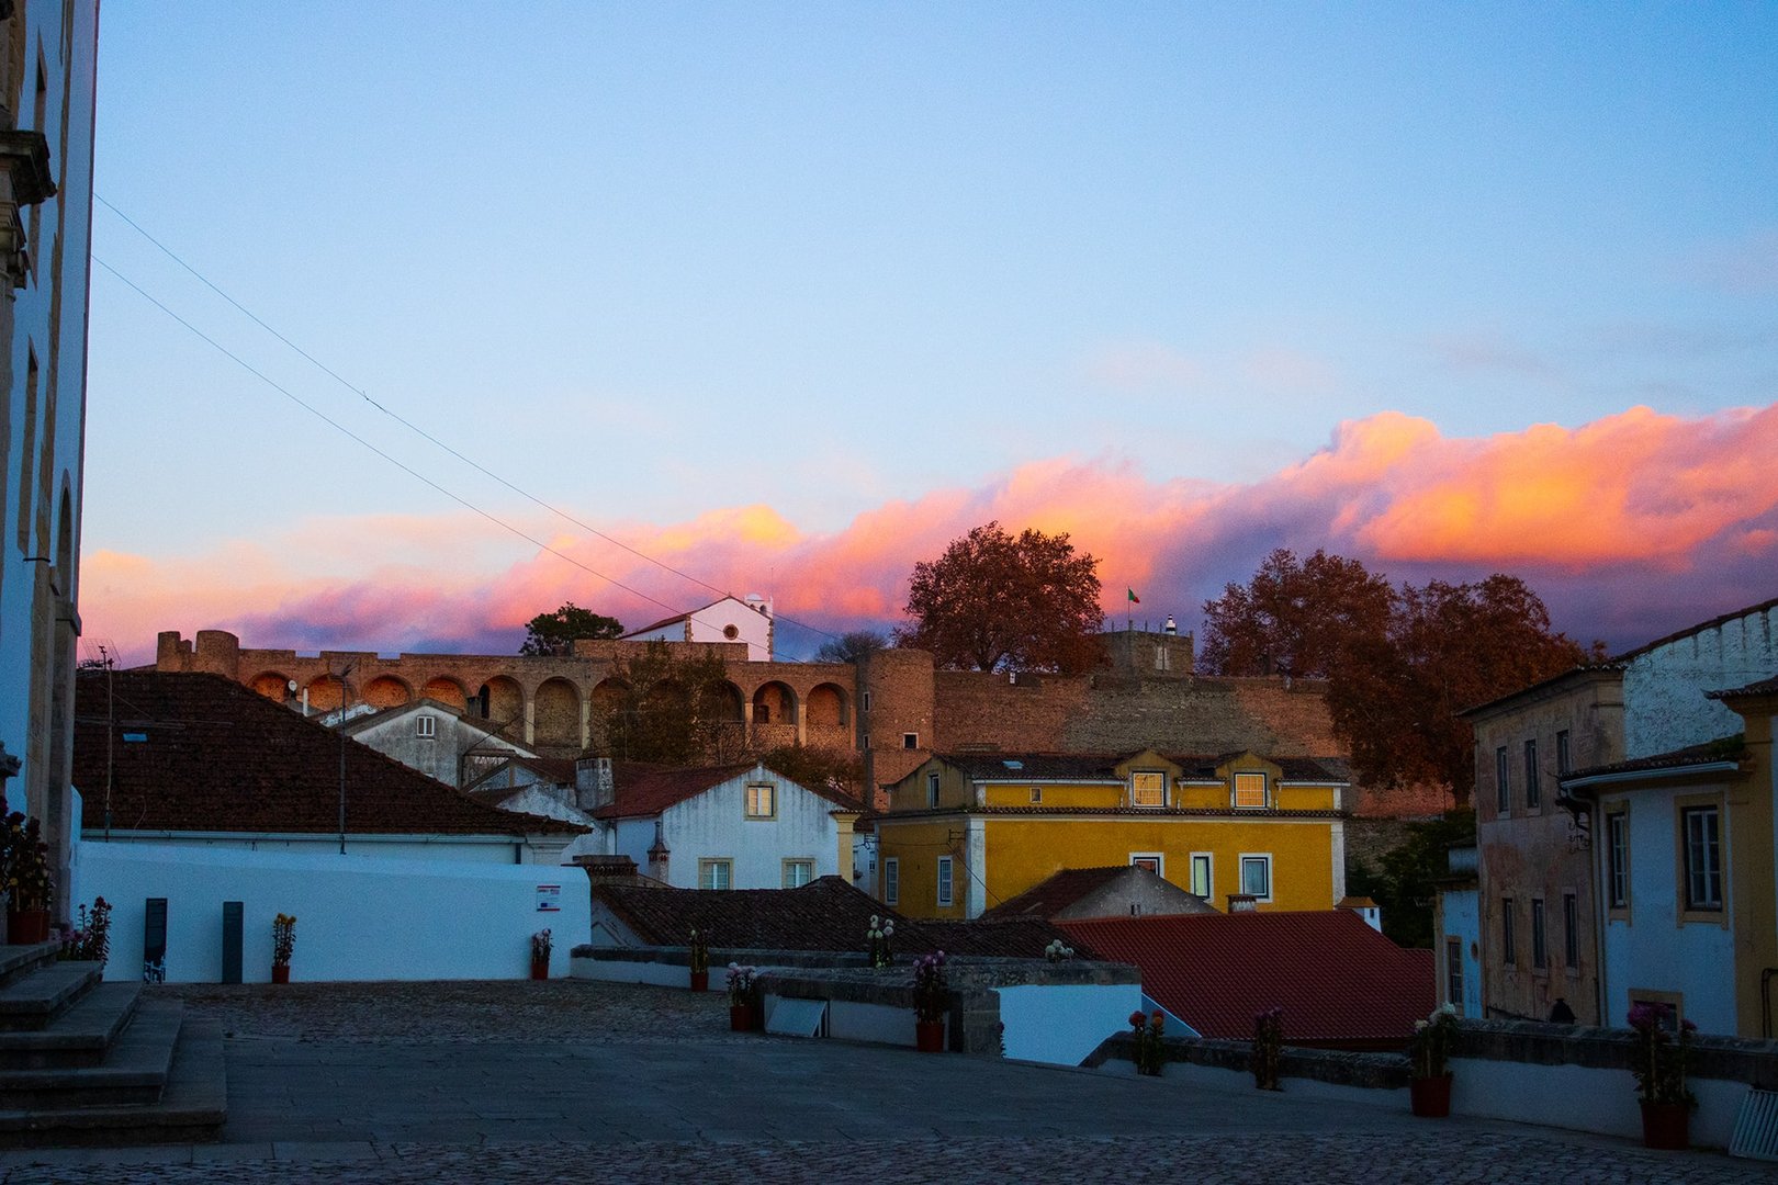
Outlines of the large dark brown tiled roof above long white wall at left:
<svg viewBox="0 0 1778 1185">
<path fill-rule="evenodd" d="M 496 810 L 357 741 L 343 744 L 352 835 L 589 830 Z M 75 785 L 89 828 L 105 823 L 108 752 L 116 830 L 338 833 L 340 750 L 338 732 L 220 675 L 87 672 L 75 680 Z"/>
</svg>

